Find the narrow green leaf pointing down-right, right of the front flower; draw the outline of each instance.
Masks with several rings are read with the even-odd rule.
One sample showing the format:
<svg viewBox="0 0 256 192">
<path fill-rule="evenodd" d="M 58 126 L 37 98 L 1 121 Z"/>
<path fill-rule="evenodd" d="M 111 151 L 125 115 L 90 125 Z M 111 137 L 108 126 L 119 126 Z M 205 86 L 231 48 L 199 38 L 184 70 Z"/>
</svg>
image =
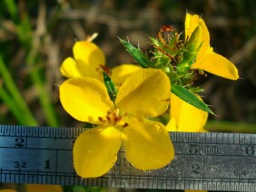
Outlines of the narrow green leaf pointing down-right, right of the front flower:
<svg viewBox="0 0 256 192">
<path fill-rule="evenodd" d="M 182 87 L 181 85 L 172 84 L 171 91 L 173 94 L 177 95 L 183 101 L 186 101 L 190 103 L 192 106 L 214 115 L 212 110 L 208 108 L 208 106 L 203 101 L 201 101 L 195 94 L 193 94 L 191 91 L 187 90 L 186 88 Z"/>
</svg>

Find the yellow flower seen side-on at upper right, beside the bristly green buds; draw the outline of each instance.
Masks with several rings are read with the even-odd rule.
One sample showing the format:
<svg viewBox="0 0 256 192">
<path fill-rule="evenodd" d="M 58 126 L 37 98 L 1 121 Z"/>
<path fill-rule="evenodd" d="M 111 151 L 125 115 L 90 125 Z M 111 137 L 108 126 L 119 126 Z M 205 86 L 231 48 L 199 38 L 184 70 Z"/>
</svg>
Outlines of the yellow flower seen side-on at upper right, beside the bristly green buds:
<svg viewBox="0 0 256 192">
<path fill-rule="evenodd" d="M 189 40 L 192 32 L 197 26 L 202 28 L 202 46 L 196 57 L 196 61 L 192 64 L 193 69 L 202 69 L 206 72 L 219 75 L 221 77 L 237 80 L 239 78 L 238 71 L 234 64 L 223 57 L 221 54 L 214 53 L 210 46 L 210 34 L 204 24 L 202 18 L 197 14 L 186 14 L 185 19 L 185 36 Z"/>
</svg>

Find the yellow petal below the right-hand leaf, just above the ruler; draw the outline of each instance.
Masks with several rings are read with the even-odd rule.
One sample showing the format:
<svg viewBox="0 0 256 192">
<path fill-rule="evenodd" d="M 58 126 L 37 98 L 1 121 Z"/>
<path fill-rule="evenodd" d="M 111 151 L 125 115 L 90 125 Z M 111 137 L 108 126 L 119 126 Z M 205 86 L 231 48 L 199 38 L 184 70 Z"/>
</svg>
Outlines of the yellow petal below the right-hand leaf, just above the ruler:
<svg viewBox="0 0 256 192">
<path fill-rule="evenodd" d="M 183 132 L 199 132 L 202 130 L 208 113 L 193 107 L 191 104 L 182 101 L 179 97 L 172 93 L 171 101 L 171 120 L 175 119 L 177 125 L 177 131 Z M 170 124 L 169 126 L 173 126 Z M 169 127 L 175 131 L 173 127 Z"/>
</svg>

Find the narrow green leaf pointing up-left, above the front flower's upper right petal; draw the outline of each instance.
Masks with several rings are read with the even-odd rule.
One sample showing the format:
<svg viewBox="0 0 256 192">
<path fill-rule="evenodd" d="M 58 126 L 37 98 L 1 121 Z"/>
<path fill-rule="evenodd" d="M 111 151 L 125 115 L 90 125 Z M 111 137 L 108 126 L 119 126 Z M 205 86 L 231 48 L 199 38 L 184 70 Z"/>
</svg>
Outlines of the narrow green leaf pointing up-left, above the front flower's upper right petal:
<svg viewBox="0 0 256 192">
<path fill-rule="evenodd" d="M 133 46 L 133 44 L 120 39 L 120 42 L 123 44 L 124 48 L 128 53 L 131 54 L 133 60 L 138 62 L 143 68 L 150 68 L 152 66 L 151 60 L 139 49 Z"/>
</svg>

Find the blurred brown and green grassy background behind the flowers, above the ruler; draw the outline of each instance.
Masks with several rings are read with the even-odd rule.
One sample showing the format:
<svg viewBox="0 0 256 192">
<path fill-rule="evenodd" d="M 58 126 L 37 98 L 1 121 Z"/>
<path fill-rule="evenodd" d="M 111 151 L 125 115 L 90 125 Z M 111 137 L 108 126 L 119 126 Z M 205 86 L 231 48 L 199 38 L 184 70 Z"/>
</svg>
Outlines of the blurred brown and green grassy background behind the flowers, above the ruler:
<svg viewBox="0 0 256 192">
<path fill-rule="evenodd" d="M 256 2 L 254 0 L 2 0 L 0 1 L 0 123 L 83 126 L 59 101 L 59 67 L 73 45 L 94 40 L 107 65 L 132 62 L 117 37 L 149 48 L 163 24 L 184 29 L 186 12 L 202 15 L 216 53 L 239 70 L 238 81 L 208 74 L 199 84 L 212 131 L 256 131 Z"/>
</svg>

